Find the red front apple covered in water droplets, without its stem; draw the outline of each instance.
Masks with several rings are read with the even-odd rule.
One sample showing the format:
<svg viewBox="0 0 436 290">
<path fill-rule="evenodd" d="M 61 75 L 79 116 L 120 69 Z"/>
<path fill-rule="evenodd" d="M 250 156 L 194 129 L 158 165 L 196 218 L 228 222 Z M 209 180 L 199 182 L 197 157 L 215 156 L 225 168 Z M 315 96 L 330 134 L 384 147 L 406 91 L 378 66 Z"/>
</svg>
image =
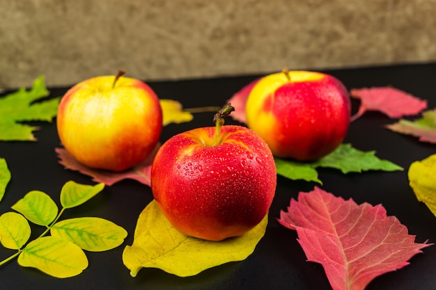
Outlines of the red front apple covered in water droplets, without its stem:
<svg viewBox="0 0 436 290">
<path fill-rule="evenodd" d="M 151 170 L 153 196 L 179 232 L 221 241 L 249 231 L 266 216 L 277 175 L 267 144 L 247 127 L 192 129 L 159 148 Z"/>
</svg>

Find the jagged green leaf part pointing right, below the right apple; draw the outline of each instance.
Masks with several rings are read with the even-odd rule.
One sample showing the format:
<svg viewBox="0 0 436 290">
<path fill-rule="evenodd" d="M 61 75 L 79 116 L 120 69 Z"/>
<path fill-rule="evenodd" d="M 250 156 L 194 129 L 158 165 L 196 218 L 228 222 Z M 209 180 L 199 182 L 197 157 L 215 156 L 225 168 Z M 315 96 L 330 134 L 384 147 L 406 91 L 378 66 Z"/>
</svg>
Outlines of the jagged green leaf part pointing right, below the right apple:
<svg viewBox="0 0 436 290">
<path fill-rule="evenodd" d="M 367 170 L 403 170 L 390 161 L 378 159 L 375 151 L 363 152 L 353 148 L 350 144 L 340 145 L 334 152 L 314 162 L 312 166 L 336 168 L 344 174 Z"/>
</svg>

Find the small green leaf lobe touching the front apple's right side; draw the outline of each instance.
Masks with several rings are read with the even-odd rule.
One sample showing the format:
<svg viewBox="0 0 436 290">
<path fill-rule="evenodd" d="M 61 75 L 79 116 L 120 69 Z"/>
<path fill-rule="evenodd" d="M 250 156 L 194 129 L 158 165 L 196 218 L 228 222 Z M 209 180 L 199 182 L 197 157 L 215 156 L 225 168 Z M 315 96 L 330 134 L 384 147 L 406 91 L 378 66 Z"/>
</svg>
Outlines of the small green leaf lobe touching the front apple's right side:
<svg viewBox="0 0 436 290">
<path fill-rule="evenodd" d="M 274 158 L 274 161 L 278 175 L 293 180 L 303 179 L 306 180 L 306 182 L 318 182 L 322 184 L 320 179 L 318 179 L 318 172 L 310 163 L 301 163 L 279 158 Z"/>
</svg>

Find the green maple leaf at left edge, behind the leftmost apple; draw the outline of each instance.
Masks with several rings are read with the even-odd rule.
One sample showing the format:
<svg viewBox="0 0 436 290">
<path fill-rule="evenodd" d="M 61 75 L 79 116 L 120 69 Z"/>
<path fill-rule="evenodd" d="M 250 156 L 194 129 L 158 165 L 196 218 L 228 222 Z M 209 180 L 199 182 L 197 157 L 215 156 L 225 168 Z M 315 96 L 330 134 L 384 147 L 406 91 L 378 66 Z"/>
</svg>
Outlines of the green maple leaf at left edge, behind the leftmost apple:
<svg viewBox="0 0 436 290">
<path fill-rule="evenodd" d="M 28 121 L 51 122 L 56 116 L 59 99 L 36 102 L 47 97 L 44 76 L 33 81 L 30 90 L 20 88 L 4 97 L 0 97 L 0 140 L 34 141 L 32 132 L 38 127 L 22 124 Z"/>
</svg>

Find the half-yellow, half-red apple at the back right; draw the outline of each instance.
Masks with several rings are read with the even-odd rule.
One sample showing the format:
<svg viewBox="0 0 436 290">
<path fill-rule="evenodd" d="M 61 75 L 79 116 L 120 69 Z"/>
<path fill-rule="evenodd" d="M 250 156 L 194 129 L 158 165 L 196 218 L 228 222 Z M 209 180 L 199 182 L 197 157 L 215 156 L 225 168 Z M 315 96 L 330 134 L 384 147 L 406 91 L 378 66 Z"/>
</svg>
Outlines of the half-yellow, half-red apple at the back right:
<svg viewBox="0 0 436 290">
<path fill-rule="evenodd" d="M 290 71 L 260 79 L 249 93 L 245 112 L 248 127 L 274 156 L 311 161 L 341 145 L 351 106 L 348 90 L 334 76 Z"/>
</svg>

